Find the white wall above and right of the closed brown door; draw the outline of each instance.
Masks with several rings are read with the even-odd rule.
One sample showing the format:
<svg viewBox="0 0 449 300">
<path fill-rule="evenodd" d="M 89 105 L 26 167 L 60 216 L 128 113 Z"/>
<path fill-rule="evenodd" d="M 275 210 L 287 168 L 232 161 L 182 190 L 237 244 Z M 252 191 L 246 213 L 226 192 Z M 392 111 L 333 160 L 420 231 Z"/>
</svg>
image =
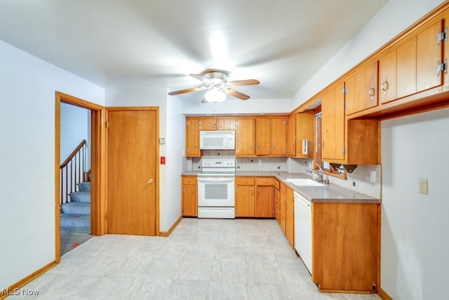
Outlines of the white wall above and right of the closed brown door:
<svg viewBox="0 0 449 300">
<path fill-rule="evenodd" d="M 169 101 L 173 102 L 169 105 Z M 185 127 L 179 99 L 167 98 L 166 89 L 106 89 L 106 106 L 159 107 L 159 137 L 166 138 L 166 144 L 159 148 L 159 155 L 166 156 L 166 164 L 159 164 L 159 225 L 161 231 L 167 231 L 181 215 L 182 164 L 179 156 L 184 148 Z"/>
</svg>

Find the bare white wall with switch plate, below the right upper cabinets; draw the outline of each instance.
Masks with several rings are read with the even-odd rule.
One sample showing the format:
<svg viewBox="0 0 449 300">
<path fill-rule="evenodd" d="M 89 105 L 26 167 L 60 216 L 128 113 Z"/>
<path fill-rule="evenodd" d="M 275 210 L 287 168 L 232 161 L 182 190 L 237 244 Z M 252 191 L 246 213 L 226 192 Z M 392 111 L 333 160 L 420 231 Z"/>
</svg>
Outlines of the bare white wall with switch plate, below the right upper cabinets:
<svg viewBox="0 0 449 300">
<path fill-rule="evenodd" d="M 393 299 L 448 299 L 448 128 L 448 108 L 381 125 L 381 287 Z"/>
</svg>

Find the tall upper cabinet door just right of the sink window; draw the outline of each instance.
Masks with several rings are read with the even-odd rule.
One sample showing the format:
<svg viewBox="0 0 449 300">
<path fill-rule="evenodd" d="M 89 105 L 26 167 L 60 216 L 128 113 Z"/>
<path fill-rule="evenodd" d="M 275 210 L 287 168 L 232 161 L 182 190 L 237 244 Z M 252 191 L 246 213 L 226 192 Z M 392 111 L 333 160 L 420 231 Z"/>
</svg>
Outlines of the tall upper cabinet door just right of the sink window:
<svg viewBox="0 0 449 300">
<path fill-rule="evenodd" d="M 344 159 L 343 84 L 323 95 L 321 103 L 321 156 L 326 162 Z"/>
</svg>

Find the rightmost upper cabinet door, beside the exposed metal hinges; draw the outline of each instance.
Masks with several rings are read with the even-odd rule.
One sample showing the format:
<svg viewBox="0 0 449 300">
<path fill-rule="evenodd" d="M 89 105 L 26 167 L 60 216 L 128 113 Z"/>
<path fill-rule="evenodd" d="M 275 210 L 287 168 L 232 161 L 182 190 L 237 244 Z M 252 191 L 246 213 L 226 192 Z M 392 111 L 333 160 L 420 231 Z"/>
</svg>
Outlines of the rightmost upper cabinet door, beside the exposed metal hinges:
<svg viewBox="0 0 449 300">
<path fill-rule="evenodd" d="M 443 30 L 443 20 L 436 20 L 417 34 L 416 39 L 416 77 L 417 91 L 441 86 L 443 72 L 436 72 L 437 63 L 443 63 L 443 44 L 438 41 L 437 32 Z"/>
</svg>

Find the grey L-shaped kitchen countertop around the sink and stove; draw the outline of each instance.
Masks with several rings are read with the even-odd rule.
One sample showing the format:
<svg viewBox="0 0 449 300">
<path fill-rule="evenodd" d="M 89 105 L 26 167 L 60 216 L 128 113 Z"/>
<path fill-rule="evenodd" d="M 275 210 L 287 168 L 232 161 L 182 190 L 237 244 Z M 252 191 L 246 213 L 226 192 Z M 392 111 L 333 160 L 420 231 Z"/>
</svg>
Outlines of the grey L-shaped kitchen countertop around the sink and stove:
<svg viewBox="0 0 449 300">
<path fill-rule="evenodd" d="M 196 176 L 198 173 L 199 171 L 189 171 L 182 175 Z M 343 188 L 335 183 L 329 183 L 325 186 L 298 186 L 285 181 L 287 178 L 311 178 L 311 176 L 302 173 L 288 173 L 286 171 L 236 171 L 236 176 L 275 177 L 311 202 L 380 203 L 380 199 L 358 193 L 349 188 Z"/>
</svg>

